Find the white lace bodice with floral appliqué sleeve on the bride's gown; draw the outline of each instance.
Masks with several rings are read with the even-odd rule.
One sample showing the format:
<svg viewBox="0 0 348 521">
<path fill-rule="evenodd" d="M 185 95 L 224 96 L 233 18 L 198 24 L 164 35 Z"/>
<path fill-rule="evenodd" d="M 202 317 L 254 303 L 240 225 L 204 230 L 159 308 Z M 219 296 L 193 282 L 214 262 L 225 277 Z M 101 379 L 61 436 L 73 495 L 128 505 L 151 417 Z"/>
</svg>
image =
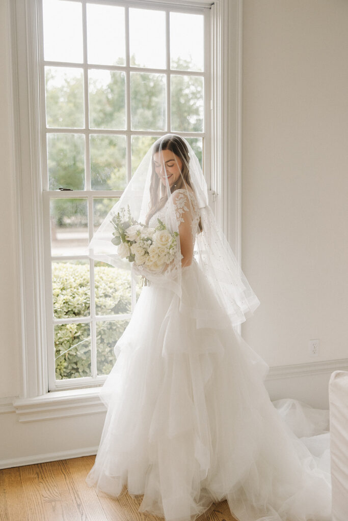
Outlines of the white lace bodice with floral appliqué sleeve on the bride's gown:
<svg viewBox="0 0 348 521">
<path fill-rule="evenodd" d="M 185 213 L 189 213 L 192 217 L 191 231 L 192 231 L 192 239 L 193 242 L 196 240 L 196 232 L 199 222 L 199 208 L 196 200 L 196 196 L 193 192 L 188 190 L 179 188 L 175 190 L 172 194 L 175 195 L 174 198 L 174 208 L 175 215 L 177 220 L 177 225 L 179 226 L 182 222 L 184 222 Z M 166 214 L 168 212 L 168 201 L 165 203 L 163 208 L 159 209 L 158 212 L 153 214 L 149 221 L 150 227 L 155 227 L 158 224 L 157 219 L 161 219 L 161 221 L 165 222 Z"/>
</svg>

